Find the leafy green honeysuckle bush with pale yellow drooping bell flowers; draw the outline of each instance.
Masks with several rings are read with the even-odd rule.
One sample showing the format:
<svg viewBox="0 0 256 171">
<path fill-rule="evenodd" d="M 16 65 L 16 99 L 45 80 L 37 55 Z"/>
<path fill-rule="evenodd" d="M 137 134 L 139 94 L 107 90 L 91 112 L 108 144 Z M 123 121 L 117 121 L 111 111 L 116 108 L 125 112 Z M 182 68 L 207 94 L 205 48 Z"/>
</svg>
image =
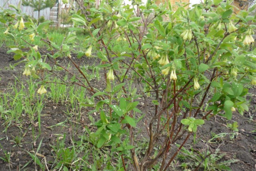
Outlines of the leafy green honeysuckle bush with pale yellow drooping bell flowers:
<svg viewBox="0 0 256 171">
<path fill-rule="evenodd" d="M 230 120 L 234 111 L 241 115 L 248 111 L 246 87 L 256 84 L 256 16 L 250 16 L 256 5 L 235 14 L 231 0 L 205 0 L 192 8 L 182 4 L 175 9 L 170 3 L 158 6 L 140 0 L 125 6 L 122 0 L 102 1 L 98 7 L 94 0 L 76 0 L 76 4 L 74 27 L 61 46 L 48 39 L 50 21 L 37 25 L 24 21 L 19 8 L 3 10 L 4 34 L 30 38 L 24 40 L 30 50 L 22 50 L 20 44 L 8 52 L 25 62 L 23 74 L 39 81 L 40 94 L 46 93 L 48 82 L 42 73 L 58 76 L 56 66 L 73 76 L 65 84 L 88 90 L 88 104 L 83 105 L 100 116 L 90 139 L 98 148 L 110 146 L 117 155 L 113 157 L 122 161 L 120 169 L 131 162 L 128 167 L 134 170 L 166 170 L 204 120 L 215 115 Z M 89 35 L 82 45 L 76 44 L 77 31 Z M 48 49 L 33 44 L 34 38 Z M 120 44 L 123 48 L 116 50 Z M 73 57 L 82 56 L 100 60 L 97 67 L 104 71 L 106 83 L 100 85 L 102 91 L 74 62 Z M 59 58 L 69 60 L 76 71 L 61 66 Z M 144 99 L 143 110 L 137 108 L 138 97 Z M 143 154 L 136 153 L 137 123 L 148 134 Z M 178 148 L 174 143 L 180 144 Z"/>
</svg>

